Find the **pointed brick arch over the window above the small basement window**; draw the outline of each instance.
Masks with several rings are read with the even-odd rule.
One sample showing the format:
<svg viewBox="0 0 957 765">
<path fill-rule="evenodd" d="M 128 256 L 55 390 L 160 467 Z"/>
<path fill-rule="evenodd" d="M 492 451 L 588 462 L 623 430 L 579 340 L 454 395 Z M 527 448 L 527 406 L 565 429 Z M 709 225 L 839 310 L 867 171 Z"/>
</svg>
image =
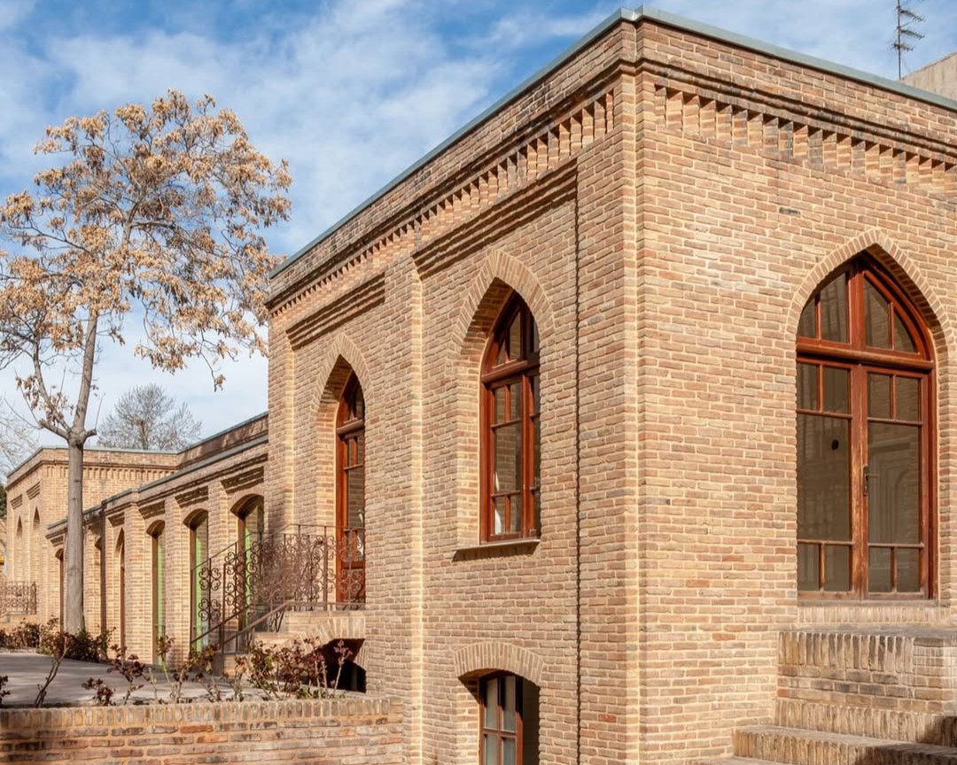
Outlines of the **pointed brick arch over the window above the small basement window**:
<svg viewBox="0 0 957 765">
<path fill-rule="evenodd" d="M 493 251 L 482 260 L 479 273 L 476 273 L 459 303 L 458 313 L 450 333 L 451 349 L 455 357 L 453 362 L 459 361 L 462 355 L 468 355 L 468 339 L 476 334 L 477 325 L 494 323 L 495 317 L 489 321 L 483 315 L 494 311 L 497 316 L 508 290 L 514 290 L 522 295 L 522 299 L 538 325 L 542 353 L 543 355 L 547 353 L 553 319 L 551 302 L 545 295 L 545 290 L 535 274 L 529 271 L 520 260 L 504 252 Z M 497 292 L 501 292 L 502 295 L 498 295 Z M 490 297 L 493 298 L 491 301 Z M 485 334 L 487 330 L 481 333 L 482 344 L 484 344 Z"/>
</svg>

